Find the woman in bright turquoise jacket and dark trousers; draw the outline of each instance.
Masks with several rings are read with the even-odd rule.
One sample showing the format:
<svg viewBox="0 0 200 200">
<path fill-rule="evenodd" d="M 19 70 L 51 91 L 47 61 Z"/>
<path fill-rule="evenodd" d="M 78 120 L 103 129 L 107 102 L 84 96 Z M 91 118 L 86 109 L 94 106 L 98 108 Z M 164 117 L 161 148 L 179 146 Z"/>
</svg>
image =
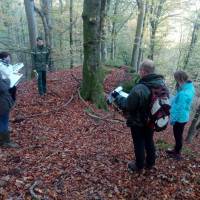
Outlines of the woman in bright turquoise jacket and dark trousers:
<svg viewBox="0 0 200 200">
<path fill-rule="evenodd" d="M 183 146 L 183 131 L 189 121 L 195 88 L 184 71 L 176 71 L 174 78 L 176 80 L 177 93 L 171 103 L 170 124 L 173 126 L 175 146 L 174 149 L 167 150 L 167 153 L 176 159 L 180 159 Z"/>
</svg>

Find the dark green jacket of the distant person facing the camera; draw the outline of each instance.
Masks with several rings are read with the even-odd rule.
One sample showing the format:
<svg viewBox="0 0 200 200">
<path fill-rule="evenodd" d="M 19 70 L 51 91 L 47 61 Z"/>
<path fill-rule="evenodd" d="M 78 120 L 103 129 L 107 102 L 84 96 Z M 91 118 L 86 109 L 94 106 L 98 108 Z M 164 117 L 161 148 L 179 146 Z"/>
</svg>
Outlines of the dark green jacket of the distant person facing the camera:
<svg viewBox="0 0 200 200">
<path fill-rule="evenodd" d="M 37 46 L 31 52 L 33 68 L 37 71 L 46 71 L 46 65 L 49 64 L 49 54 L 50 50 L 47 47 L 39 47 Z"/>
</svg>

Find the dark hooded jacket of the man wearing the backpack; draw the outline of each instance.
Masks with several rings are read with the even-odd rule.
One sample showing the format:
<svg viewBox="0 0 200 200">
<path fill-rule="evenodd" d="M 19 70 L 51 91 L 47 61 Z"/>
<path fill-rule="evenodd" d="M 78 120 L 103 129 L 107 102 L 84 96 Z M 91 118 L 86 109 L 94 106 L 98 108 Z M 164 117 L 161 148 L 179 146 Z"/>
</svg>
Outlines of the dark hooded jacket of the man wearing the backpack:
<svg viewBox="0 0 200 200">
<path fill-rule="evenodd" d="M 149 88 L 156 88 L 163 85 L 163 76 L 149 74 L 135 85 L 129 96 L 124 98 L 117 96 L 115 102 L 120 109 L 127 113 L 127 126 L 145 126 L 150 113 L 151 91 Z"/>
</svg>

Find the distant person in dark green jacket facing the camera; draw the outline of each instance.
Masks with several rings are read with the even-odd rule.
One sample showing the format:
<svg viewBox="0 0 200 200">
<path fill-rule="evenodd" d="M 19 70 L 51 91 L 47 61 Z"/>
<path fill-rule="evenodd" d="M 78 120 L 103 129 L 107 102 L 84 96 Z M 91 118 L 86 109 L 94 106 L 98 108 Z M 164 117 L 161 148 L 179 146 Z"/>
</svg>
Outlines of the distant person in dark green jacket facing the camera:
<svg viewBox="0 0 200 200">
<path fill-rule="evenodd" d="M 46 72 L 49 64 L 50 51 L 44 46 L 44 41 L 41 37 L 37 38 L 37 46 L 31 52 L 33 60 L 33 69 L 38 74 L 38 91 L 41 96 L 46 94 Z"/>
</svg>

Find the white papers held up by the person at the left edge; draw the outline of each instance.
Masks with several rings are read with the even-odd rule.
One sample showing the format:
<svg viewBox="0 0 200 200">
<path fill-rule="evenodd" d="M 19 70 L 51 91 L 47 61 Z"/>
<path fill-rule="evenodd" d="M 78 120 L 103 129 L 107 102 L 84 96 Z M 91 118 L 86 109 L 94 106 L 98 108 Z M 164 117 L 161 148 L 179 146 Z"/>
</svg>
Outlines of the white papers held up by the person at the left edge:
<svg viewBox="0 0 200 200">
<path fill-rule="evenodd" d="M 15 65 L 6 65 L 0 62 L 0 73 L 3 79 L 10 80 L 10 87 L 17 85 L 22 78 L 23 74 L 18 71 L 24 66 L 23 63 L 18 63 Z"/>
</svg>

